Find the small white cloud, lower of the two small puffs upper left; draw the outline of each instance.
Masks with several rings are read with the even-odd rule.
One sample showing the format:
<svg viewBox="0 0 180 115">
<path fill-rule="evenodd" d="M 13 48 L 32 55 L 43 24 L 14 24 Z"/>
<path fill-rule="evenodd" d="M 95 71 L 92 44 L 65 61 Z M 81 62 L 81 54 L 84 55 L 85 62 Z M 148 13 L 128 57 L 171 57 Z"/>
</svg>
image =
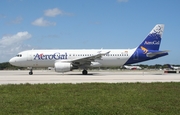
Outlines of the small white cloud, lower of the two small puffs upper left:
<svg viewBox="0 0 180 115">
<path fill-rule="evenodd" d="M 34 22 L 32 22 L 32 25 L 35 26 L 55 26 L 56 23 L 55 22 L 49 22 L 47 20 L 44 20 L 44 18 L 38 18 L 36 19 Z"/>
</svg>

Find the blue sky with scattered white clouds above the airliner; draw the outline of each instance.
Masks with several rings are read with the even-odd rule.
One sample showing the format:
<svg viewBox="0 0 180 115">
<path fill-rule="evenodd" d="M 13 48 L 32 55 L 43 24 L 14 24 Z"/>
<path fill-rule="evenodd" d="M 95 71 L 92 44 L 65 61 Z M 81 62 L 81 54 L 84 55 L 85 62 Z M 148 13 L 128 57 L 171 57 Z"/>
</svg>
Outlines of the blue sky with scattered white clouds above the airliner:
<svg viewBox="0 0 180 115">
<path fill-rule="evenodd" d="M 180 0 L 0 0 L 0 63 L 29 49 L 135 48 L 156 24 L 169 55 L 140 64 L 180 64 Z"/>
</svg>

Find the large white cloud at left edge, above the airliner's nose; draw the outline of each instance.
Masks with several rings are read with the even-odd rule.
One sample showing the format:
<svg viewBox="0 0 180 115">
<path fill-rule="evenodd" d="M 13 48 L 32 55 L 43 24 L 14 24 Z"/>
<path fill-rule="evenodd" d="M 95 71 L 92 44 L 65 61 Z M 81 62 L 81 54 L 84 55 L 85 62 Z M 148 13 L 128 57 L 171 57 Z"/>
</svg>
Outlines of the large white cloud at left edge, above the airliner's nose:
<svg viewBox="0 0 180 115">
<path fill-rule="evenodd" d="M 30 45 L 23 44 L 23 41 L 32 37 L 27 31 L 18 32 L 15 35 L 4 35 L 0 39 L 0 62 L 8 61 L 18 52 L 30 49 Z"/>
</svg>

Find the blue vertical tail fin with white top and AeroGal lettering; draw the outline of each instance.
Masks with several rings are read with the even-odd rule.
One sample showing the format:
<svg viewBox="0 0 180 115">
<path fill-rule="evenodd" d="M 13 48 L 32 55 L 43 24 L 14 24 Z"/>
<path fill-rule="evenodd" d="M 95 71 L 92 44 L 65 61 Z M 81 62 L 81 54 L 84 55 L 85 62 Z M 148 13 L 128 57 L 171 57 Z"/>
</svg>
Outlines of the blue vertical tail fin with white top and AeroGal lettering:
<svg viewBox="0 0 180 115">
<path fill-rule="evenodd" d="M 164 24 L 157 24 L 138 48 L 145 52 L 148 50 L 159 50 L 163 31 Z"/>
</svg>

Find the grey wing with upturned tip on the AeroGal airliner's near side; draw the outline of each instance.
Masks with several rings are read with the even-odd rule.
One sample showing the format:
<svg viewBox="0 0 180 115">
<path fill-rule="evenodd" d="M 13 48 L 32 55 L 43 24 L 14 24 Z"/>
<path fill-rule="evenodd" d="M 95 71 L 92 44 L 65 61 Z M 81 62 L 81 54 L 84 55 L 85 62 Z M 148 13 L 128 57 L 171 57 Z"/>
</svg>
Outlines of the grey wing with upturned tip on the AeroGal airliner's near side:
<svg viewBox="0 0 180 115">
<path fill-rule="evenodd" d="M 102 56 L 109 54 L 110 51 L 108 52 L 97 52 L 96 55 L 92 55 L 92 56 L 87 56 L 87 57 L 81 57 L 81 58 L 76 58 L 76 59 L 72 59 L 72 60 L 62 60 L 63 62 L 71 62 L 74 66 L 90 66 L 91 62 L 94 62 L 96 59 L 101 59 Z"/>
</svg>

